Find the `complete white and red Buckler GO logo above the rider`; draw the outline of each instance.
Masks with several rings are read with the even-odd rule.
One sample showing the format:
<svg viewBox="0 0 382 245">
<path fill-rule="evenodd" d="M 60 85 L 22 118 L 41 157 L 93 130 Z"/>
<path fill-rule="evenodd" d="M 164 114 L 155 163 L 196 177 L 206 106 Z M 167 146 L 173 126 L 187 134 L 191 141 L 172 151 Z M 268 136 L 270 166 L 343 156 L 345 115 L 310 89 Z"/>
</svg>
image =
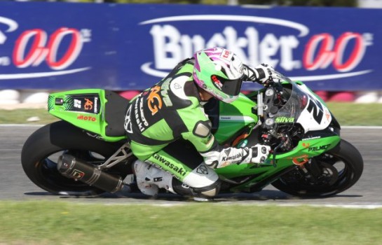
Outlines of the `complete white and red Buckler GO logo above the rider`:
<svg viewBox="0 0 382 245">
<path fill-rule="evenodd" d="M 223 27 L 216 29 L 210 36 L 189 34 L 186 29 L 177 26 L 185 21 L 191 25 L 192 22 L 205 25 L 221 23 Z M 227 24 L 224 27 L 225 22 Z M 240 28 L 236 28 L 236 22 L 240 22 Z M 244 64 L 250 66 L 264 62 L 275 69 L 281 67 L 284 71 L 320 73 L 318 76 L 296 76 L 292 80 L 338 79 L 373 71 L 357 69 L 368 48 L 373 45 L 374 36 L 369 32 L 346 30 L 336 35 L 311 33 L 311 29 L 303 23 L 249 15 L 178 15 L 145 20 L 139 25 L 150 27 L 154 60 L 142 64 L 141 69 L 151 76 L 165 77 L 180 60 L 212 46 L 227 48 L 226 52 L 221 53 L 221 57 L 228 59 L 231 55 L 228 50 L 231 50 Z M 274 31 L 262 31 L 263 29 L 257 28 L 260 25 L 277 26 L 282 30 L 282 35 Z M 333 69 L 336 73 L 333 73 Z"/>
</svg>

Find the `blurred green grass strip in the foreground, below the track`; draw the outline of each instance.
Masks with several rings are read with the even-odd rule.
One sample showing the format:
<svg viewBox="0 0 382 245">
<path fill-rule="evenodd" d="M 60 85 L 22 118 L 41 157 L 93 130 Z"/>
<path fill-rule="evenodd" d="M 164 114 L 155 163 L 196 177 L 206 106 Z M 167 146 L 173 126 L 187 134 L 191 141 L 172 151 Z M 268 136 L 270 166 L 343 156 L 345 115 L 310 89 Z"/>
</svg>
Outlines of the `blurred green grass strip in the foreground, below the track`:
<svg viewBox="0 0 382 245">
<path fill-rule="evenodd" d="M 0 202 L 0 244 L 381 244 L 382 209 Z"/>
</svg>

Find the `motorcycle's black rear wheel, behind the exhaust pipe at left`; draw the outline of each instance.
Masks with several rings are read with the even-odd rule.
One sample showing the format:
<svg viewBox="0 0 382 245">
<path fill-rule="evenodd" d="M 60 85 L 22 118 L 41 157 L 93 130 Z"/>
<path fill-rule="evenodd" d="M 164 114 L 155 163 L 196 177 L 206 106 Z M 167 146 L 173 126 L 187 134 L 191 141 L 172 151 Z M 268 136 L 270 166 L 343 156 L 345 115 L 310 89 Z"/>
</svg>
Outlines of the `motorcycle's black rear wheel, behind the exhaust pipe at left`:
<svg viewBox="0 0 382 245">
<path fill-rule="evenodd" d="M 104 191 L 62 176 L 57 171 L 57 159 L 67 153 L 93 165 L 100 165 L 120 146 L 121 143 L 89 137 L 78 127 L 59 121 L 41 127 L 27 139 L 21 153 L 22 168 L 36 186 L 50 193 L 97 195 Z M 127 165 L 128 162 L 124 162 L 108 171 L 124 177 L 130 171 Z"/>
</svg>

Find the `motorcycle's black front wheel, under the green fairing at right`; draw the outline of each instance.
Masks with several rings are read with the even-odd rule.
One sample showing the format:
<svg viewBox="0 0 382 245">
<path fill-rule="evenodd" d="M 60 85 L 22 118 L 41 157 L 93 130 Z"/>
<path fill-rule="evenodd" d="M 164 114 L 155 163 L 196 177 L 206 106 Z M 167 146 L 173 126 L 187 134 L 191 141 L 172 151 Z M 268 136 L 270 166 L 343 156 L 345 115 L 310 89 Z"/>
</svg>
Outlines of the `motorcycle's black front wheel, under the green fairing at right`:
<svg viewBox="0 0 382 245">
<path fill-rule="evenodd" d="M 301 169 L 288 172 L 272 183 L 285 193 L 299 197 L 328 197 L 353 186 L 363 171 L 360 152 L 352 144 L 341 139 L 331 151 L 312 158 L 306 169 L 319 174 L 304 174 Z"/>
</svg>

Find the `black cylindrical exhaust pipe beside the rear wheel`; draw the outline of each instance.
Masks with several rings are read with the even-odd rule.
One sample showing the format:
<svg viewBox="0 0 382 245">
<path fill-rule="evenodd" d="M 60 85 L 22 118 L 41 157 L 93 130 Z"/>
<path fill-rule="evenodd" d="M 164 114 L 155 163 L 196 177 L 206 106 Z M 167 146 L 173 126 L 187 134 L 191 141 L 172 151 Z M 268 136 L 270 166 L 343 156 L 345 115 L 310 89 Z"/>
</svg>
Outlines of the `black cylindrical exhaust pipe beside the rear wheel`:
<svg viewBox="0 0 382 245">
<path fill-rule="evenodd" d="M 63 176 L 95 186 L 108 193 L 115 193 L 123 188 L 121 177 L 102 172 L 88 162 L 74 158 L 72 155 L 61 155 L 57 169 Z"/>
</svg>

